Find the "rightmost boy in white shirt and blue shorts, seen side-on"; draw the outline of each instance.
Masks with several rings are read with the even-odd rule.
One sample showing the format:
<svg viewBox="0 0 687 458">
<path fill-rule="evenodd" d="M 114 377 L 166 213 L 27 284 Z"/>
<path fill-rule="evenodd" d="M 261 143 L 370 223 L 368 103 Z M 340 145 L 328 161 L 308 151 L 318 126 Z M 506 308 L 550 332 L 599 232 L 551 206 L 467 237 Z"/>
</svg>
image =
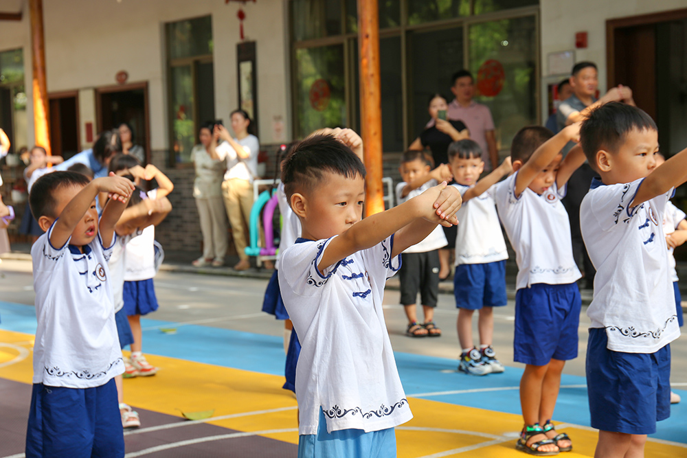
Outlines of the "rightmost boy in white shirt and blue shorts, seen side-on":
<svg viewBox="0 0 687 458">
<path fill-rule="evenodd" d="M 601 177 L 580 208 L 597 271 L 587 309 L 594 456 L 643 457 L 646 435 L 670 416 L 669 344 L 680 330 L 662 220 L 675 187 L 687 181 L 687 149 L 656 168 L 656 124 L 618 102 L 590 112 L 580 137 Z"/>
</svg>

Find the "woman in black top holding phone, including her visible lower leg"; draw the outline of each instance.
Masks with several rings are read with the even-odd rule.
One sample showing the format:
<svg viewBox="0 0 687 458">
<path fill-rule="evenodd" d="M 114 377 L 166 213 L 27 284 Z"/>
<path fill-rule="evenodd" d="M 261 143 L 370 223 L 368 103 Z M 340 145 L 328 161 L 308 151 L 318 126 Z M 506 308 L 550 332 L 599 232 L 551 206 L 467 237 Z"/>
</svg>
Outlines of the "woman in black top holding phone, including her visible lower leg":
<svg viewBox="0 0 687 458">
<path fill-rule="evenodd" d="M 423 150 L 429 148 L 434 159 L 434 165 L 449 163 L 449 145 L 453 141 L 470 138 L 470 133 L 462 121 L 447 121 L 446 114 L 449 105 L 441 94 L 432 94 L 428 104 L 429 116 L 431 119 L 425 130 L 408 147 L 409 150 Z M 440 113 L 442 116 L 440 116 Z M 439 279 L 444 281 L 449 278 L 451 266 L 449 259 L 451 251 L 455 250 L 455 237 L 458 228 L 455 226 L 444 227 L 447 246 L 439 250 Z"/>
</svg>

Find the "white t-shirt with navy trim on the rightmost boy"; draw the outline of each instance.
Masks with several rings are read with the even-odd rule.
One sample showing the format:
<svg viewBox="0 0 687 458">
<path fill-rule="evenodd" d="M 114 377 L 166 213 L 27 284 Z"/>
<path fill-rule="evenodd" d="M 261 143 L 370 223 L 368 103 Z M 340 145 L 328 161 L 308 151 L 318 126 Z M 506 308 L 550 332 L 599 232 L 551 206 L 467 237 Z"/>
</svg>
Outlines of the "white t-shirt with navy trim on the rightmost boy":
<svg viewBox="0 0 687 458">
<path fill-rule="evenodd" d="M 587 316 L 591 328 L 606 328 L 614 352 L 653 353 L 680 335 L 661 224 L 673 190 L 630 207 L 642 181 L 603 185 L 595 179 L 580 206 L 582 236 L 596 268 Z"/>
</svg>

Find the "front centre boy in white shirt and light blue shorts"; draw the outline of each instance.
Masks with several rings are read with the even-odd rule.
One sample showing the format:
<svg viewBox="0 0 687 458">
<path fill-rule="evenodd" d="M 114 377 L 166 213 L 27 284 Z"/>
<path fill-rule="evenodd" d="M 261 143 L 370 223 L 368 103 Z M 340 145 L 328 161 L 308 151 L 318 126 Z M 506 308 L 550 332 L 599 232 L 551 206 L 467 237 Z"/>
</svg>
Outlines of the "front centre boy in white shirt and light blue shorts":
<svg viewBox="0 0 687 458">
<path fill-rule="evenodd" d="M 445 182 L 361 220 L 364 177 L 360 159 L 329 135 L 302 141 L 282 169 L 302 225 L 279 271 L 302 343 L 295 383 L 301 458 L 396 456 L 394 426 L 412 413 L 384 323 L 384 284 L 403 250 L 437 224 L 457 222 L 460 194 Z"/>
</svg>

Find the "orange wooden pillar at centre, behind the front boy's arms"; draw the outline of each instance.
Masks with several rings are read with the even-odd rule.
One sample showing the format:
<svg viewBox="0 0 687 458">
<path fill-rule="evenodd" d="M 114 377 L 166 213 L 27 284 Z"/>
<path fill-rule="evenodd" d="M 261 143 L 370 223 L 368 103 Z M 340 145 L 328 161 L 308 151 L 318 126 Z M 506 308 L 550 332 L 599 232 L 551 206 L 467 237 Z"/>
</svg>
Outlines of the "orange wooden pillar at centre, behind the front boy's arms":
<svg viewBox="0 0 687 458">
<path fill-rule="evenodd" d="M 358 0 L 360 125 L 365 152 L 365 216 L 384 211 L 378 0 Z"/>
</svg>

